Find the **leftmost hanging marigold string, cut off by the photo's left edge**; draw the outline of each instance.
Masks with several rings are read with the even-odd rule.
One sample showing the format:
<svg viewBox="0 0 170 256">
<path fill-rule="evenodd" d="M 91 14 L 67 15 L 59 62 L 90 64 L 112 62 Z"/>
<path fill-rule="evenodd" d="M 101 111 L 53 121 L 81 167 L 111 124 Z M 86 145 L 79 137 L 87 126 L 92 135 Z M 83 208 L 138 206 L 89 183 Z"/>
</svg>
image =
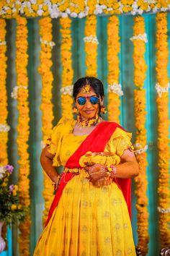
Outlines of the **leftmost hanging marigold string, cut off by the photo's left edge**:
<svg viewBox="0 0 170 256">
<path fill-rule="evenodd" d="M 1 166 L 8 164 L 7 142 L 9 127 L 6 124 L 8 116 L 6 95 L 6 21 L 0 19 L 0 152 Z"/>
</svg>

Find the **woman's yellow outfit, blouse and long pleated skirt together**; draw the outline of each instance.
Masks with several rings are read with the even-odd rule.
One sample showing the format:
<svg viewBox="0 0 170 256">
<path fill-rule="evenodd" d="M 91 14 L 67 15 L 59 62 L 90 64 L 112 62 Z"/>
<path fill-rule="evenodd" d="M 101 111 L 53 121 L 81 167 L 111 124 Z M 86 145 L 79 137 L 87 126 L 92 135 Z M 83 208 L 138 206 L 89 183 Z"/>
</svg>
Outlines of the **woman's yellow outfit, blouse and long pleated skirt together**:
<svg viewBox="0 0 170 256">
<path fill-rule="evenodd" d="M 55 153 L 54 166 L 64 166 L 86 138 L 73 135 L 72 126 L 61 122 L 53 130 L 49 151 Z M 130 145 L 130 134 L 117 128 L 104 151 L 121 156 Z M 94 187 L 84 170 L 73 176 L 42 231 L 34 255 L 136 255 L 128 208 L 117 184 Z"/>
</svg>

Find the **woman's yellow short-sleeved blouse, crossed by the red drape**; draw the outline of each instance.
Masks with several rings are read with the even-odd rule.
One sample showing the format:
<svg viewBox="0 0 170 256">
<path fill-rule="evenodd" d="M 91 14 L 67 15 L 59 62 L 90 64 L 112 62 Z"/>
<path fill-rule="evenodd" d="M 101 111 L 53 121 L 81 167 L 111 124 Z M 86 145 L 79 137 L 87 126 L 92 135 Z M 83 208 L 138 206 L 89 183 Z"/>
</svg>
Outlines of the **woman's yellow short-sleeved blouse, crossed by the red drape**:
<svg viewBox="0 0 170 256">
<path fill-rule="evenodd" d="M 68 158 L 79 148 L 81 142 L 86 139 L 87 135 L 73 135 L 75 122 L 75 120 L 62 118 L 53 128 L 49 137 L 50 140 L 48 139 L 48 152 L 55 155 L 53 166 L 65 166 Z M 104 152 L 115 153 L 121 156 L 124 150 L 132 147 L 131 137 L 131 133 L 117 127 L 107 142 Z"/>
</svg>

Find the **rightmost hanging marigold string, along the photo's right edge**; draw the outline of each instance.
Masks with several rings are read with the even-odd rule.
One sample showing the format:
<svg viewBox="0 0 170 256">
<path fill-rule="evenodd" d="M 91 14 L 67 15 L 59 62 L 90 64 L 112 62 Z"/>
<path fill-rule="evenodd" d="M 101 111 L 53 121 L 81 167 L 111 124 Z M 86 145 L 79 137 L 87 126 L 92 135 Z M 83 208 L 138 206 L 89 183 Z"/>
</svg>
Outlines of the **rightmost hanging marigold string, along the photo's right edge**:
<svg viewBox="0 0 170 256">
<path fill-rule="evenodd" d="M 167 13 L 156 15 L 156 89 L 158 96 L 158 211 L 161 247 L 170 244 L 169 229 L 169 87 Z"/>
</svg>

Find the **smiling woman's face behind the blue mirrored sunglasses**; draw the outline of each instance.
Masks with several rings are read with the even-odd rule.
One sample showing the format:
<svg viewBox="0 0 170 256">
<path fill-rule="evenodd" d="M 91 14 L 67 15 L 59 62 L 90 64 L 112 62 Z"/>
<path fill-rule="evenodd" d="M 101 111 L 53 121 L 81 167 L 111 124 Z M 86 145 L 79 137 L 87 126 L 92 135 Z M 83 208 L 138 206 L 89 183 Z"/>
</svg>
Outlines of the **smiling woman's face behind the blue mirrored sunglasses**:
<svg viewBox="0 0 170 256">
<path fill-rule="evenodd" d="M 90 90 L 89 93 L 85 93 L 84 88 L 82 88 L 81 91 L 76 96 L 76 107 L 79 111 L 79 114 L 81 114 L 82 119 L 91 119 L 99 113 L 99 103 L 100 104 L 102 103 L 101 98 L 99 98 L 97 104 L 93 104 L 94 103 L 93 99 L 94 100 L 96 100 L 96 99 L 95 98 L 90 99 L 91 96 L 97 96 L 97 94 L 94 93 L 94 90 Z M 80 97 L 85 98 L 86 102 L 84 105 L 79 104 Z M 82 100 L 84 100 L 84 99 L 82 99 Z"/>
</svg>

